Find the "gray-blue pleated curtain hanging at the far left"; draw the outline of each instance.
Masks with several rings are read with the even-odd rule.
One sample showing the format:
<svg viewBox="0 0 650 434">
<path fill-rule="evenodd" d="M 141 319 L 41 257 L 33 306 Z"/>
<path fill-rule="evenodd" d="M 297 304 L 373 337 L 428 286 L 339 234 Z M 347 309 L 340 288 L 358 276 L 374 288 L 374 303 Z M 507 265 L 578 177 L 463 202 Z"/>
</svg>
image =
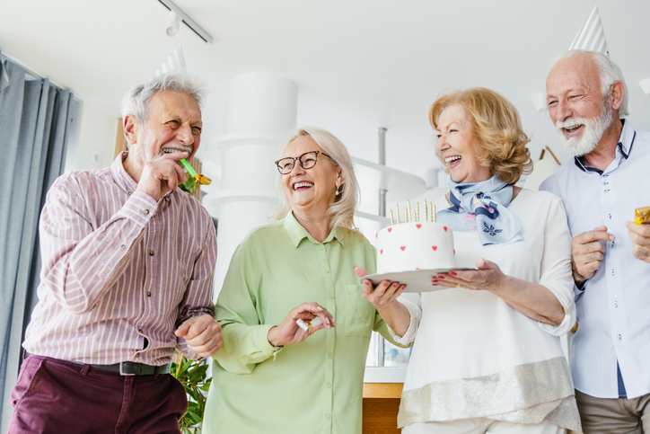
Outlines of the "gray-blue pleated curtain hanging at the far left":
<svg viewBox="0 0 650 434">
<path fill-rule="evenodd" d="M 73 95 L 28 75 L 0 53 L 0 401 L 2 432 L 22 359 L 22 338 L 36 302 L 40 209 L 63 172 Z"/>
</svg>

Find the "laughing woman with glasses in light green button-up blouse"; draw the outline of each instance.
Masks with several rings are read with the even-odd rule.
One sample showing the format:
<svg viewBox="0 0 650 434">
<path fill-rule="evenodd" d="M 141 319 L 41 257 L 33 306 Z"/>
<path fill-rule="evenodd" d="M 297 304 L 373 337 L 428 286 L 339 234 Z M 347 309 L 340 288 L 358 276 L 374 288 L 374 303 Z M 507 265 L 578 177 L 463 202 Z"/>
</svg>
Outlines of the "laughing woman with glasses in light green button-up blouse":
<svg viewBox="0 0 650 434">
<path fill-rule="evenodd" d="M 282 218 L 246 236 L 217 300 L 204 431 L 360 433 L 371 332 L 391 336 L 354 271 L 373 273 L 376 253 L 354 226 L 352 161 L 337 137 L 302 128 L 276 164 Z M 316 316 L 308 332 L 296 324 Z"/>
</svg>

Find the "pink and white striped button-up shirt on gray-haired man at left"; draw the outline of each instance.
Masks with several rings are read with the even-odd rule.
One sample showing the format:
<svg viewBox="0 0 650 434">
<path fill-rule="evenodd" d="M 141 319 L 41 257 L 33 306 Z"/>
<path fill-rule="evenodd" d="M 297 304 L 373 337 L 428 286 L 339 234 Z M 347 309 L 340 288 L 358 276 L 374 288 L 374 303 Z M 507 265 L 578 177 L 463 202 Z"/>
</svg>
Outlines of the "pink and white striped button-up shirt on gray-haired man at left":
<svg viewBox="0 0 650 434">
<path fill-rule="evenodd" d="M 184 191 L 158 202 L 136 191 L 127 154 L 110 168 L 66 173 L 48 191 L 39 303 L 23 343 L 32 354 L 162 365 L 179 348 L 197 359 L 174 331 L 214 314 L 215 226 Z"/>
</svg>

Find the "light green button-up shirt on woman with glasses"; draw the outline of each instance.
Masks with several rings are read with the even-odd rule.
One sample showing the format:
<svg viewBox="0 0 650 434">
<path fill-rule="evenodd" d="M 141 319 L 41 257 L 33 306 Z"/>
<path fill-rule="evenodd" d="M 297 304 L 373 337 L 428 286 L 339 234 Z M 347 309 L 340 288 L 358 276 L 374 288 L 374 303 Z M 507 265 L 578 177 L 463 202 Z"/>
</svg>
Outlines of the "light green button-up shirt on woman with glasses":
<svg viewBox="0 0 650 434">
<path fill-rule="evenodd" d="M 234 252 L 216 304 L 224 346 L 214 356 L 204 432 L 361 433 L 371 332 L 391 336 L 353 270 L 373 273 L 375 250 L 344 235 L 335 227 L 318 243 L 290 213 L 254 229 Z M 304 302 L 328 309 L 336 327 L 271 346 L 268 330 Z"/>
</svg>

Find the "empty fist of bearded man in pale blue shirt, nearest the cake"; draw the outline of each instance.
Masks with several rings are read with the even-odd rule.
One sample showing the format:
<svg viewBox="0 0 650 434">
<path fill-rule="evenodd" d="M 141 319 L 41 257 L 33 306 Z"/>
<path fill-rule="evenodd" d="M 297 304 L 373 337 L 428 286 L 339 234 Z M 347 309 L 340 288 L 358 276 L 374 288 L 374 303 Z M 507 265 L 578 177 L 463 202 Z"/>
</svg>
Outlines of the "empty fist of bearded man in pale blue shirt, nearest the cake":
<svg viewBox="0 0 650 434">
<path fill-rule="evenodd" d="M 614 235 L 607 232 L 607 226 L 596 227 L 571 240 L 571 268 L 575 285 L 582 287 L 601 268 L 607 250 L 602 242 L 608 241 L 614 241 Z"/>
</svg>

